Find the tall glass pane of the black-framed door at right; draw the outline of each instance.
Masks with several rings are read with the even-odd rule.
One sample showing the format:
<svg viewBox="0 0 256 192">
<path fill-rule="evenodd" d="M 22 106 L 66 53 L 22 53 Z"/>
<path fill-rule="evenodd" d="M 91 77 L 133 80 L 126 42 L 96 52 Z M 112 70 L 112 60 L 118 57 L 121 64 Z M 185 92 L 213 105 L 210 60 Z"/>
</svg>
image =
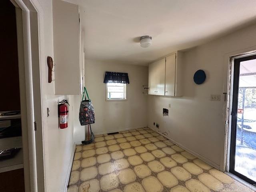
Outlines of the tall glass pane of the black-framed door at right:
<svg viewBox="0 0 256 192">
<path fill-rule="evenodd" d="M 234 170 L 256 181 L 256 59 L 240 62 Z"/>
</svg>

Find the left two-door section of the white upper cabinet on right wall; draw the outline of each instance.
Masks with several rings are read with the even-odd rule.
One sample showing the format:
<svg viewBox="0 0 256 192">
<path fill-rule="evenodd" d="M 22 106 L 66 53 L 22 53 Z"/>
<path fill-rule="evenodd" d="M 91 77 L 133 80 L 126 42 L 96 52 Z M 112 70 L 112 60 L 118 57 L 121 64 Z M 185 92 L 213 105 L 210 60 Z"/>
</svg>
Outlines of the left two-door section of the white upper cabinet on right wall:
<svg viewBox="0 0 256 192">
<path fill-rule="evenodd" d="M 164 95 L 165 58 L 149 65 L 148 94 Z"/>
</svg>

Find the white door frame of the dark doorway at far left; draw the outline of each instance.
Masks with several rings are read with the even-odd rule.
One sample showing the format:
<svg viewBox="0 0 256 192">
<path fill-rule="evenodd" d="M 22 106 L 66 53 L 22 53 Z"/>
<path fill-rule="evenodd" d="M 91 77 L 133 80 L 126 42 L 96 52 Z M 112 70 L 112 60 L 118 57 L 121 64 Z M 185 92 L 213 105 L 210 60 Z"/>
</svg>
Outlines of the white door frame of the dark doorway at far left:
<svg viewBox="0 0 256 192">
<path fill-rule="evenodd" d="M 38 0 L 11 2 L 16 7 L 25 191 L 44 192 L 43 10 Z"/>
</svg>

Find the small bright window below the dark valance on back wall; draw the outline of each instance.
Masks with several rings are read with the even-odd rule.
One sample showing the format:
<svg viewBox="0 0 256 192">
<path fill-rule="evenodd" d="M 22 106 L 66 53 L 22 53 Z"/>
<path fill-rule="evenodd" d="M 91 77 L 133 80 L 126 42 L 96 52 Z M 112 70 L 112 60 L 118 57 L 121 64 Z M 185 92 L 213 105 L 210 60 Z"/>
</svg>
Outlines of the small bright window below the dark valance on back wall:
<svg viewBox="0 0 256 192">
<path fill-rule="evenodd" d="M 126 100 L 126 84 L 106 83 L 106 100 Z"/>
</svg>

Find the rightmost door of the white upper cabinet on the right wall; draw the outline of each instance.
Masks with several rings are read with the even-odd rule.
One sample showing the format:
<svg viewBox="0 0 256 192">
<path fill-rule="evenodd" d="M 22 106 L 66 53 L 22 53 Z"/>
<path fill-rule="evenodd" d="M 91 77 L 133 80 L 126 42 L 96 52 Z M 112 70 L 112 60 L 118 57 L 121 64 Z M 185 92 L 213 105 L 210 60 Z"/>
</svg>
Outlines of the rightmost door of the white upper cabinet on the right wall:
<svg viewBox="0 0 256 192">
<path fill-rule="evenodd" d="M 165 67 L 165 95 L 175 96 L 175 64 L 176 54 L 166 57 Z"/>
</svg>

